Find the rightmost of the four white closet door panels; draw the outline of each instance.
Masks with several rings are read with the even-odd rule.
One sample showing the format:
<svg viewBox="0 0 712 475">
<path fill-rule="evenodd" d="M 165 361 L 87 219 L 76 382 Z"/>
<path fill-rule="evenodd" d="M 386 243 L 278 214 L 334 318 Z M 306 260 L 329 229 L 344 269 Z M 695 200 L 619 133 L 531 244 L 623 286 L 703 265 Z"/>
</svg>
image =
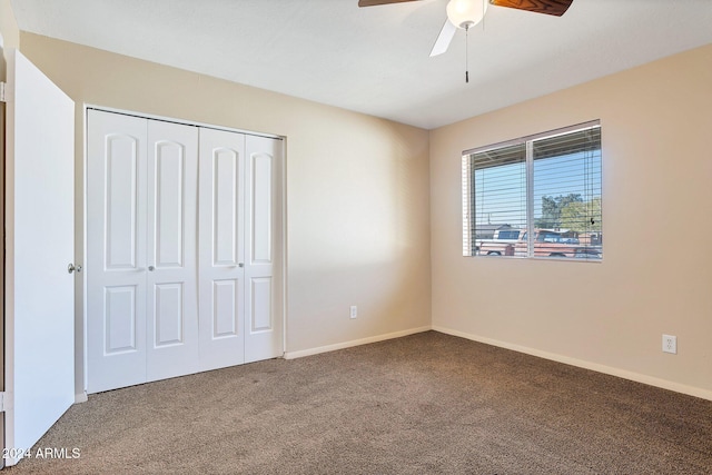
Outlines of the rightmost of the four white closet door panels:
<svg viewBox="0 0 712 475">
<path fill-rule="evenodd" d="M 283 355 L 283 141 L 247 136 L 245 362 Z"/>
</svg>

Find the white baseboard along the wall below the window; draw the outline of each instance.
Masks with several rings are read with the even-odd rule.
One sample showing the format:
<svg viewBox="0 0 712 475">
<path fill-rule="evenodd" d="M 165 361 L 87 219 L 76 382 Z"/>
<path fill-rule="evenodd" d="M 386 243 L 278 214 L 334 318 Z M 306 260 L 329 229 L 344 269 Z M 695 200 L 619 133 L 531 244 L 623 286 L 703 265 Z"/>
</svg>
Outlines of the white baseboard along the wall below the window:
<svg viewBox="0 0 712 475">
<path fill-rule="evenodd" d="M 441 327 L 437 325 L 433 325 L 433 330 L 471 339 L 473 342 L 479 342 L 479 343 L 484 343 L 492 346 L 498 346 L 501 348 L 512 349 L 518 353 L 525 353 L 532 356 L 538 356 L 540 358 L 551 359 L 553 362 L 564 363 L 571 366 L 577 366 L 584 369 L 591 369 L 591 370 L 603 373 L 611 376 L 617 376 L 620 378 L 634 380 L 636 383 L 643 383 L 643 384 L 660 387 L 663 389 L 674 390 L 675 393 L 682 393 L 689 396 L 695 396 L 702 399 L 712 400 L 712 390 L 702 389 L 694 386 L 688 386 L 684 384 L 674 383 L 671 380 L 661 379 L 653 376 L 643 375 L 640 373 L 629 372 L 625 369 L 614 368 L 612 366 L 600 365 L 597 363 L 591 363 L 583 359 L 571 358 L 568 356 L 557 355 L 555 353 L 542 352 L 540 349 L 530 348 L 526 346 L 514 345 L 511 343 L 500 342 L 492 338 L 485 338 L 478 335 L 472 335 L 464 331 Z"/>
</svg>

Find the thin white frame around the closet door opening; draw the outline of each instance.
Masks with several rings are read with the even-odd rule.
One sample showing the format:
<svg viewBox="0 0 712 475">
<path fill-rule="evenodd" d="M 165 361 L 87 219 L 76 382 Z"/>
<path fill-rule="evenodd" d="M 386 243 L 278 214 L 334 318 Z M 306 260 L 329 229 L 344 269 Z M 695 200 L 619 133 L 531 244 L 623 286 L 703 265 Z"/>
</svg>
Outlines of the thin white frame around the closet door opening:
<svg viewBox="0 0 712 475">
<path fill-rule="evenodd" d="M 280 286 L 277 290 L 279 293 L 279 308 L 276 308 L 281 315 L 278 318 L 281 321 L 281 357 L 284 357 L 287 350 L 287 137 L 279 136 L 275 133 L 265 133 L 265 132 L 256 132 L 253 130 L 238 129 L 234 127 L 224 127 L 216 126 L 214 123 L 198 122 L 195 120 L 184 120 L 165 116 L 157 116 L 152 113 L 137 112 L 127 109 L 118 109 L 106 106 L 98 106 L 93 103 L 82 103 L 81 107 L 81 130 L 82 130 L 82 149 L 83 149 L 83 160 L 82 160 L 82 169 L 81 169 L 81 181 L 77 180 L 76 182 L 81 182 L 81 232 L 77 232 L 77 239 L 81 239 L 81 259 L 82 263 L 87 263 L 87 221 L 88 221 L 88 212 L 87 212 L 87 171 L 89 164 L 89 154 L 87 150 L 87 140 L 88 140 L 88 111 L 89 109 L 101 110 L 105 112 L 113 112 L 121 113 L 125 116 L 132 116 L 142 119 L 150 120 L 161 120 L 166 122 L 180 123 L 185 126 L 194 126 L 194 127 L 204 127 L 216 130 L 224 130 L 228 132 L 244 133 L 249 136 L 265 137 L 276 140 L 281 140 L 281 156 L 279 157 L 279 182 L 278 182 L 278 192 L 279 192 L 279 206 L 281 209 L 281 216 L 279 217 L 280 221 L 280 232 L 277 236 L 277 246 L 279 247 L 280 253 L 280 263 L 275 268 L 280 273 Z M 196 275 L 196 279 L 198 276 Z M 81 273 L 81 284 L 77 286 L 76 296 L 76 313 L 77 315 L 81 315 L 81 331 L 82 331 L 82 345 L 81 352 L 77 352 L 77 402 L 86 402 L 87 400 L 87 387 L 88 387 L 88 375 L 87 375 L 87 364 L 88 364 L 88 339 L 87 339 L 87 273 Z M 81 383 L 80 383 L 81 382 Z M 81 385 L 81 388 L 79 388 Z"/>
</svg>

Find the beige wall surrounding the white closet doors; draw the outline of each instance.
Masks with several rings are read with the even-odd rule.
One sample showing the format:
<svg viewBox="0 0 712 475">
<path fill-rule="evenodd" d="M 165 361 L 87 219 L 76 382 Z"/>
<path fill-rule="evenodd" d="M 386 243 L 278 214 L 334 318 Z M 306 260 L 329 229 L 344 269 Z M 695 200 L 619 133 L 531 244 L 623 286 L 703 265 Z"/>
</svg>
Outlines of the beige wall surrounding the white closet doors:
<svg viewBox="0 0 712 475">
<path fill-rule="evenodd" d="M 286 137 L 287 352 L 429 326 L 426 130 L 31 33 L 20 40 L 77 102 L 79 185 L 82 103 Z M 81 186 L 76 198 L 81 210 Z"/>
</svg>

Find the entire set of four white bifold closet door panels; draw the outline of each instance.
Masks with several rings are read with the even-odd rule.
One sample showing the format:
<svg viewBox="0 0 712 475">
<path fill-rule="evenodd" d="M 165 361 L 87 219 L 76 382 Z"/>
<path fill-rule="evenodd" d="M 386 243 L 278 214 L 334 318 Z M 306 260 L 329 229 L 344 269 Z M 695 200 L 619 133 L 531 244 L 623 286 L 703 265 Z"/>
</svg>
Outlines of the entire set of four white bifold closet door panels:
<svg viewBox="0 0 712 475">
<path fill-rule="evenodd" d="M 281 141 L 89 110 L 89 393 L 280 356 Z"/>
</svg>

